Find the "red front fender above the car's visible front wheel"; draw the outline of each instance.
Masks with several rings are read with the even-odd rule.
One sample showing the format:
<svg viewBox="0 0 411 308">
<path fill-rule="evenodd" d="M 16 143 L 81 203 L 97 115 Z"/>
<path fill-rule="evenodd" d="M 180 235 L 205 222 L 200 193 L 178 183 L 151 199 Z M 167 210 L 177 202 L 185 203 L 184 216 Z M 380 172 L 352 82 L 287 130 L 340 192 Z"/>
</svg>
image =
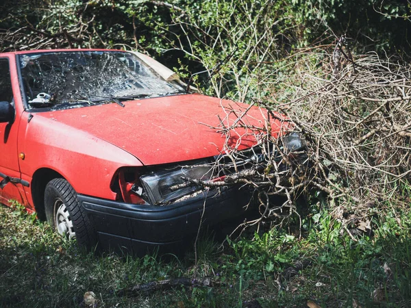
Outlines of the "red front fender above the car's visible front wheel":
<svg viewBox="0 0 411 308">
<path fill-rule="evenodd" d="M 123 166 L 142 166 L 130 153 L 82 130 L 53 119 L 24 112 L 18 133 L 22 179 L 31 183 L 34 172 L 49 168 L 60 173 L 79 194 L 114 200 L 110 190 L 114 172 Z"/>
</svg>

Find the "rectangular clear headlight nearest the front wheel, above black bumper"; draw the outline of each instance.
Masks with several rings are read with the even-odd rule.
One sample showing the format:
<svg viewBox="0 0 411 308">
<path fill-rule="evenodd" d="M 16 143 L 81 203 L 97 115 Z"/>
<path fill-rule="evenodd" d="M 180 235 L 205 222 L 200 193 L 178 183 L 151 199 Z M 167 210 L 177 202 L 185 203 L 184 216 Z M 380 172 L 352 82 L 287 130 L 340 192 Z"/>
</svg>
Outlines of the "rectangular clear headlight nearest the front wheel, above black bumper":
<svg viewBox="0 0 411 308">
<path fill-rule="evenodd" d="M 197 188 L 188 186 L 173 190 L 173 186 L 186 183 L 187 179 L 208 181 L 212 177 L 210 166 L 186 166 L 174 170 L 164 170 L 140 177 L 151 204 L 175 200 L 186 194 L 195 192 Z"/>
</svg>

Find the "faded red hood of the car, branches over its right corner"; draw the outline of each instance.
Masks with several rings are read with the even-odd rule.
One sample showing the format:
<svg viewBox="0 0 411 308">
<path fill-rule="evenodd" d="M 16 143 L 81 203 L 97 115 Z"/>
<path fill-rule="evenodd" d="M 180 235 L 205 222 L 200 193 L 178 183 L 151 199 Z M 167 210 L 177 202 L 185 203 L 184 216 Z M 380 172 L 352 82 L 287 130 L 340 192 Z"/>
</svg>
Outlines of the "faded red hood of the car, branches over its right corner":
<svg viewBox="0 0 411 308">
<path fill-rule="evenodd" d="M 236 116 L 227 114 L 230 106 L 243 112 L 249 105 L 206 97 L 199 94 L 180 94 L 153 99 L 93 105 L 67 110 L 41 112 L 51 120 L 80 129 L 131 153 L 145 165 L 168 164 L 202 157 L 211 157 L 224 149 L 226 136 L 212 127 L 233 123 Z M 264 112 L 253 107 L 243 118 L 249 125 L 264 125 Z M 228 122 L 227 122 L 228 121 Z M 284 126 L 271 124 L 274 132 Z M 256 143 L 251 132 L 232 131 L 228 144 L 245 149 Z"/>
</svg>

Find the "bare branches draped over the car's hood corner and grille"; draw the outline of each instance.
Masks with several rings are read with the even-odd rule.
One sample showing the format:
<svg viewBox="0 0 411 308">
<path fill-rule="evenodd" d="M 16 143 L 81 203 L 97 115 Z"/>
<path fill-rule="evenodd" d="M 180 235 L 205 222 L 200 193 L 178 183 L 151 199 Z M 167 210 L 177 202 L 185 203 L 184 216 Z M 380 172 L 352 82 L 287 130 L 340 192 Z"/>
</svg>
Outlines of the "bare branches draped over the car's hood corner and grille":
<svg viewBox="0 0 411 308">
<path fill-rule="evenodd" d="M 207 188 L 227 185 L 251 188 L 261 216 L 249 224 L 298 215 L 294 201 L 310 185 L 305 140 L 297 133 L 290 133 L 294 128 L 290 118 L 273 112 L 267 105 L 260 108 L 264 122 L 256 125 L 255 117 L 249 114 L 256 103 L 248 107 L 223 106 L 225 117 L 220 118 L 219 126 L 211 127 L 225 136 L 221 155 L 213 163 L 214 174 L 223 175 L 222 180 L 196 183 Z M 241 150 L 242 140 L 256 140 L 258 145 Z M 279 202 L 273 196 L 285 198 Z"/>
</svg>

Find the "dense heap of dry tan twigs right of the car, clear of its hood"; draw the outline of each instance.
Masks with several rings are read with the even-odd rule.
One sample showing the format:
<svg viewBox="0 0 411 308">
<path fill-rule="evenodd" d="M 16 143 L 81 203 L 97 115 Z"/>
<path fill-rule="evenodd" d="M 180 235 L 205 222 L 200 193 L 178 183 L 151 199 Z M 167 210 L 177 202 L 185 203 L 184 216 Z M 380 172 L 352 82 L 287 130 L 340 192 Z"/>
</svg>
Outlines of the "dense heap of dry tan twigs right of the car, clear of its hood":
<svg viewBox="0 0 411 308">
<path fill-rule="evenodd" d="M 279 109 L 310 140 L 315 177 L 332 198 L 381 201 L 410 179 L 411 70 L 375 53 L 347 55 L 340 43 L 332 65 L 310 55 L 304 64 L 316 70 L 299 71 L 295 99 Z"/>
</svg>

